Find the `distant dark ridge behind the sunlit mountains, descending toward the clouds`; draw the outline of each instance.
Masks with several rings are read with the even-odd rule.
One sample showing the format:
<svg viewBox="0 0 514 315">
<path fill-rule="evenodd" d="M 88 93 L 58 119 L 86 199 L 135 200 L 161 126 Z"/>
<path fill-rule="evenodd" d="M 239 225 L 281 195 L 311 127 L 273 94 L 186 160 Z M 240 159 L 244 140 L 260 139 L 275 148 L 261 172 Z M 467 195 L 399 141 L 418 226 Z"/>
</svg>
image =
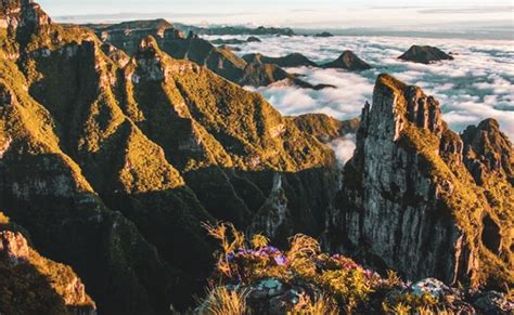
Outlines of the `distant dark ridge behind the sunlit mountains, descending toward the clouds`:
<svg viewBox="0 0 514 315">
<path fill-rule="evenodd" d="M 240 86 L 262 87 L 286 81 L 288 84 L 306 89 L 326 88 L 322 84 L 313 87 L 277 65 L 268 65 L 260 61 L 246 62 L 232 53 L 231 49 L 217 48 L 192 31 L 185 37 L 182 31 L 164 19 L 126 22 L 115 25 L 88 25 L 88 27 L 94 29 L 103 42 L 112 44 L 129 55 L 138 51 L 139 42 L 143 38 L 152 36 L 157 40 L 159 48 L 170 56 L 205 66 Z M 239 43 L 239 40 L 233 43 Z"/>
</svg>

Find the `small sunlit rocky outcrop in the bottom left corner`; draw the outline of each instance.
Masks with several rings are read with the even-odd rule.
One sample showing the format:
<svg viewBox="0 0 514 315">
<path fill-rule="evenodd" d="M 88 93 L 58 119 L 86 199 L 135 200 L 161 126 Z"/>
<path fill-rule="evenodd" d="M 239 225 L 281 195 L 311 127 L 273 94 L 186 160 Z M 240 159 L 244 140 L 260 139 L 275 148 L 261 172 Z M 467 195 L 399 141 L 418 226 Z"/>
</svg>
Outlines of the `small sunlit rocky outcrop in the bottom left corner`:
<svg viewBox="0 0 514 315">
<path fill-rule="evenodd" d="M 0 212 L 0 312 L 95 314 L 97 306 L 69 266 L 41 257 Z"/>
</svg>

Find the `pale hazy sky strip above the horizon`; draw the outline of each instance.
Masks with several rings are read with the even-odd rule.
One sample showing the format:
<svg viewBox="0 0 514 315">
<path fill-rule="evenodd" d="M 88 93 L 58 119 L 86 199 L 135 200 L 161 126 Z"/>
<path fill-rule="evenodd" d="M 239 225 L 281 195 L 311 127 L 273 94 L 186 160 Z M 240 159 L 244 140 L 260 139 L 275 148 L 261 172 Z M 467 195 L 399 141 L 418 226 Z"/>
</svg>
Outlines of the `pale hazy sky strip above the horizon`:
<svg viewBox="0 0 514 315">
<path fill-rule="evenodd" d="M 164 17 L 195 25 L 255 24 L 299 28 L 507 27 L 512 0 L 38 0 L 60 22 Z M 413 4 L 415 3 L 415 4 Z"/>
</svg>

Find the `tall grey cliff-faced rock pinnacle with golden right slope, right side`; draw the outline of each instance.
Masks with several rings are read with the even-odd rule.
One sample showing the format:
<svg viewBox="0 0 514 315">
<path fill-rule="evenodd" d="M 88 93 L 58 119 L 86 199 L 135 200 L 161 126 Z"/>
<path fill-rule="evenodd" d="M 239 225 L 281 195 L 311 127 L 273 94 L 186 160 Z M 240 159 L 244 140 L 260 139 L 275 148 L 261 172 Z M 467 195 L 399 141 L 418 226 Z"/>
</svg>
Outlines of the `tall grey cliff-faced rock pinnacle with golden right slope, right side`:
<svg viewBox="0 0 514 315">
<path fill-rule="evenodd" d="M 436 100 L 381 75 L 335 199 L 332 245 L 409 279 L 512 284 L 514 192 L 501 167 L 512 166 L 512 146 L 492 120 L 463 139 Z M 486 165 L 496 180 L 478 186 L 472 174 Z"/>
</svg>

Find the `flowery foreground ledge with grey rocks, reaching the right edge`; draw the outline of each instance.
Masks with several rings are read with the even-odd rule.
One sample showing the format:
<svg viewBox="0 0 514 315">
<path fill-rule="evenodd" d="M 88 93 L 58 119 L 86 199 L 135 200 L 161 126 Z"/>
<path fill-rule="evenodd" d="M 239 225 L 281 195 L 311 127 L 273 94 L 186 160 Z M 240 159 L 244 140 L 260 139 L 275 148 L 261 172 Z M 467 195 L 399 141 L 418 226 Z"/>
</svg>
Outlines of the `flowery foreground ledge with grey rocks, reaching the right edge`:
<svg viewBox="0 0 514 315">
<path fill-rule="evenodd" d="M 240 306 L 256 314 L 510 314 L 514 301 L 497 291 L 449 287 L 436 278 L 414 284 L 388 272 L 383 277 L 351 259 L 323 253 L 305 235 L 290 239 L 281 251 L 261 235 L 232 238 L 230 225 L 208 227 L 223 244 L 211 280 L 211 289 L 196 310 L 220 313 Z M 231 235 L 233 234 L 233 235 Z M 241 248 L 244 246 L 244 248 Z M 223 298 L 223 299 L 220 299 Z M 222 310 L 226 310 L 222 312 Z"/>
</svg>

